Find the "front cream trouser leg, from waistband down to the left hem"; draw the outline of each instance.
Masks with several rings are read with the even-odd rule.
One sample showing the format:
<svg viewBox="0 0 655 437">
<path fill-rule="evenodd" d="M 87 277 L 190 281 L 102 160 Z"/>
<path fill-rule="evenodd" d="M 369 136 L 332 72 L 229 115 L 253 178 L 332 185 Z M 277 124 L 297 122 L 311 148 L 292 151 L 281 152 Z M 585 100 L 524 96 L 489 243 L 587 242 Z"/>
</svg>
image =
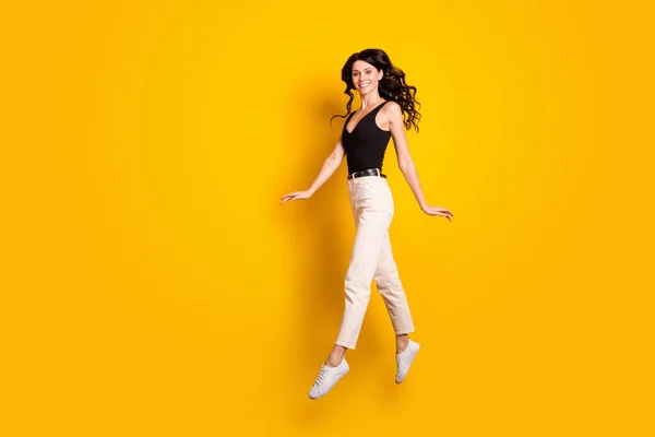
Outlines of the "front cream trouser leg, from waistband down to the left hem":
<svg viewBox="0 0 655 437">
<path fill-rule="evenodd" d="M 362 178 L 364 179 L 364 178 Z M 353 182 L 350 200 L 357 232 L 345 281 L 345 310 L 336 344 L 355 349 L 371 295 L 371 283 L 393 216 L 393 201 L 386 181 Z"/>
</svg>

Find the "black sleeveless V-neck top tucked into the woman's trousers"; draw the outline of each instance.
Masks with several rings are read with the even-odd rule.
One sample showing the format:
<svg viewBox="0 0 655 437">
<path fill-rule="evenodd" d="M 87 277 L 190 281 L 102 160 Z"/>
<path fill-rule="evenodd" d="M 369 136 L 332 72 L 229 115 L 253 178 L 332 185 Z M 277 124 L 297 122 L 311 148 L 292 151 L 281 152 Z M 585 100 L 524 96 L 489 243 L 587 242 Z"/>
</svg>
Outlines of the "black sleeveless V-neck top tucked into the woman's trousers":
<svg viewBox="0 0 655 437">
<path fill-rule="evenodd" d="M 346 119 L 342 133 L 342 144 L 346 151 L 348 174 L 361 172 L 367 168 L 380 168 L 382 170 L 382 161 L 384 161 L 384 152 L 391 139 L 391 132 L 378 127 L 376 116 L 386 102 L 381 103 L 364 116 L 357 126 L 355 126 L 353 132 L 348 132 L 347 126 L 355 113 L 350 114 Z"/>
</svg>

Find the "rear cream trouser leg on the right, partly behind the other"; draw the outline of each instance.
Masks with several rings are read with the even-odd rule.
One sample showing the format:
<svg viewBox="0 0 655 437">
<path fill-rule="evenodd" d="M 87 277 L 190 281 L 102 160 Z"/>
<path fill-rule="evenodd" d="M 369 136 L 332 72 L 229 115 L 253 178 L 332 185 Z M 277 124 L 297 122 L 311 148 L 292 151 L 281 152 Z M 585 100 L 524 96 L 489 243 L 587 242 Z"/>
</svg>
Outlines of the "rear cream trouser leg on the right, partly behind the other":
<svg viewBox="0 0 655 437">
<path fill-rule="evenodd" d="M 384 305 L 386 305 L 386 311 L 391 318 L 395 334 L 414 332 L 414 321 L 409 312 L 409 305 L 407 304 L 407 296 L 401 282 L 398 269 L 393 259 L 389 232 L 386 232 L 382 243 L 374 280 L 378 284 L 378 292 L 380 292 L 382 299 L 384 299 Z"/>
</svg>

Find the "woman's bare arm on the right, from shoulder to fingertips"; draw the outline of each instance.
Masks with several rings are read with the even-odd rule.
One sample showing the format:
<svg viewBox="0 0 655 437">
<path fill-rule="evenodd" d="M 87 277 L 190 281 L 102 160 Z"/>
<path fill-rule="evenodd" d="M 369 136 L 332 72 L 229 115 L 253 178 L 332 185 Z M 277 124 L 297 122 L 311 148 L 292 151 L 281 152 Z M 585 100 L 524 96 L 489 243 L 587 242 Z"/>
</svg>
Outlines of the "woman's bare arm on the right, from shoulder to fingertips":
<svg viewBox="0 0 655 437">
<path fill-rule="evenodd" d="M 391 135 L 393 137 L 393 143 L 395 145 L 396 156 L 398 158 L 398 167 L 403 173 L 405 180 L 407 180 L 409 188 L 412 188 L 412 192 L 414 192 L 414 197 L 416 198 L 418 205 L 426 214 L 441 215 L 450 221 L 453 214 L 449 210 L 440 206 L 430 206 L 426 203 L 426 199 L 420 187 L 420 181 L 418 179 L 418 172 L 416 172 L 414 160 L 412 160 L 412 155 L 409 154 L 407 137 L 405 135 L 405 125 L 403 123 L 403 110 L 401 106 L 396 103 L 392 103 L 386 105 L 386 108 L 384 109 L 386 109 L 386 115 L 389 117 L 389 128 Z"/>
</svg>

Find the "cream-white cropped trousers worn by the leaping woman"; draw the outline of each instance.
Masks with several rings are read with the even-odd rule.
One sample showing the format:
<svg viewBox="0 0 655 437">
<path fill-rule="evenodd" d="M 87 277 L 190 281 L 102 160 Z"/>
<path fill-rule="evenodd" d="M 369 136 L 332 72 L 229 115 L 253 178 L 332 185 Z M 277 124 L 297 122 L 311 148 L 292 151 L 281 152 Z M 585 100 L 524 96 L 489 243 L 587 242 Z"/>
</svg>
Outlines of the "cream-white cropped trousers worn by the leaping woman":
<svg viewBox="0 0 655 437">
<path fill-rule="evenodd" d="M 348 192 L 357 233 L 346 273 L 346 307 L 336 344 L 355 349 L 373 279 L 395 334 L 414 332 L 414 322 L 389 239 L 394 213 L 389 182 L 379 176 L 354 178 L 348 180 Z"/>
</svg>

